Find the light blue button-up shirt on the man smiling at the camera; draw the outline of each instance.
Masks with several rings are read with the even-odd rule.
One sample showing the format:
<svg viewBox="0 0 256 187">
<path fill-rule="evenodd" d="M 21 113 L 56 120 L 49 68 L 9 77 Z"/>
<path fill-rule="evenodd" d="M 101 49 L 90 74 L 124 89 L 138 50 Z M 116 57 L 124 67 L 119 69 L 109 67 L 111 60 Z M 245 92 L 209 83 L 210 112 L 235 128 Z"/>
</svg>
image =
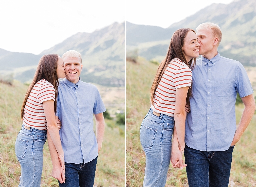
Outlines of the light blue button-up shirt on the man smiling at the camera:
<svg viewBox="0 0 256 187">
<path fill-rule="evenodd" d="M 75 164 L 90 162 L 98 155 L 93 114 L 106 111 L 99 91 L 80 79 L 74 84 L 65 78 L 59 81 L 58 92 L 55 115 L 62 124 L 59 132 L 64 160 Z"/>
</svg>

